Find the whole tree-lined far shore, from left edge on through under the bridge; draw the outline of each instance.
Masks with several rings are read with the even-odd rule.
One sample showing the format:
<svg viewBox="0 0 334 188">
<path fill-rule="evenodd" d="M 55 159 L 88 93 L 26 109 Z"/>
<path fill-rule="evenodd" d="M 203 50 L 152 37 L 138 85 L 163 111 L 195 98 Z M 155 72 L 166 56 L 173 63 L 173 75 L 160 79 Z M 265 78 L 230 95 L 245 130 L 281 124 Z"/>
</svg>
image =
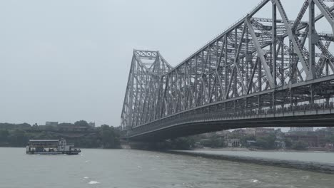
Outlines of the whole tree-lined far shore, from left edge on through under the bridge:
<svg viewBox="0 0 334 188">
<path fill-rule="evenodd" d="M 29 125 L 28 123 L 0 123 L 0 147 L 25 147 L 30 139 L 66 139 L 81 148 L 121 148 L 130 145 L 141 150 L 252 150 L 252 151 L 325 151 L 325 147 L 310 147 L 307 140 L 290 140 L 287 133 L 275 130 L 265 135 L 241 134 L 241 131 L 211 132 L 202 135 L 179 137 L 161 142 L 127 142 L 121 140 L 121 131 L 112 126 L 91 126 L 85 120 L 56 125 Z M 223 134 L 222 134 L 223 133 Z M 334 129 L 300 132 L 300 137 L 318 137 L 318 142 L 334 143 Z M 238 140 L 237 145 L 229 146 L 229 140 Z M 251 140 L 251 145 L 249 141 Z M 284 143 L 278 145 L 278 143 Z M 328 150 L 329 151 L 329 150 Z M 333 148 L 331 151 L 334 151 Z"/>
</svg>

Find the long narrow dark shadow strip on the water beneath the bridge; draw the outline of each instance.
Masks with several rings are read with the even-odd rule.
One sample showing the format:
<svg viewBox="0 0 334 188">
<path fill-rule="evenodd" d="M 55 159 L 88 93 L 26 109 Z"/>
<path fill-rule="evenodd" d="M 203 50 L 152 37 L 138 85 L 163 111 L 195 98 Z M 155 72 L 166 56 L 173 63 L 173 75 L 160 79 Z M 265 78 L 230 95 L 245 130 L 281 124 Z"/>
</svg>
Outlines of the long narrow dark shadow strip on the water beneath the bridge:
<svg viewBox="0 0 334 188">
<path fill-rule="evenodd" d="M 205 150 L 198 152 L 198 150 L 185 151 L 185 150 L 168 150 L 166 151 L 172 154 L 188 155 L 193 157 L 205 157 L 214 160 L 228 160 L 233 162 L 244 162 L 251 164 L 270 165 L 275 167 L 285 167 L 294 169 L 303 169 L 312 172 L 322 172 L 327 174 L 334 174 L 334 163 L 329 162 L 311 162 L 300 160 L 278 160 L 264 157 L 250 157 L 241 155 L 224 155 L 218 153 L 207 153 Z"/>
</svg>

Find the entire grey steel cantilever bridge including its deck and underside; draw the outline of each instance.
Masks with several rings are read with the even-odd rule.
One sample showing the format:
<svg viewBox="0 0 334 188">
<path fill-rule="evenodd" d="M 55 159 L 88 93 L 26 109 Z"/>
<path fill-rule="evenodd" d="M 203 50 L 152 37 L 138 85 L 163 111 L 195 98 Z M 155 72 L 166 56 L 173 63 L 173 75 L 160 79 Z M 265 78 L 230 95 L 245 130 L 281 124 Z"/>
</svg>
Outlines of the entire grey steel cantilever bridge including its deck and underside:
<svg viewBox="0 0 334 188">
<path fill-rule="evenodd" d="M 291 20 L 280 0 L 261 1 L 176 67 L 159 51 L 134 50 L 121 113 L 125 137 L 333 126 L 334 0 L 300 6 Z M 257 16 L 268 8 L 268 18 Z"/>
</svg>

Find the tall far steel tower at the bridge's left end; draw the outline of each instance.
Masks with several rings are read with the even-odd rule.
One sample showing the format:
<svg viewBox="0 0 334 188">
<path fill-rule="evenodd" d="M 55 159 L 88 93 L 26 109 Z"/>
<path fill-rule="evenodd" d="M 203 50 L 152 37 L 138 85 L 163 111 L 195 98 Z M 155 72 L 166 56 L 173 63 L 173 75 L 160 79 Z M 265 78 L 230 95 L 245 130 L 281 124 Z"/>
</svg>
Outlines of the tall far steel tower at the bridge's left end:
<svg viewBox="0 0 334 188">
<path fill-rule="evenodd" d="M 121 114 L 123 128 L 156 120 L 162 85 L 166 82 L 163 75 L 171 68 L 158 51 L 133 51 Z"/>
</svg>

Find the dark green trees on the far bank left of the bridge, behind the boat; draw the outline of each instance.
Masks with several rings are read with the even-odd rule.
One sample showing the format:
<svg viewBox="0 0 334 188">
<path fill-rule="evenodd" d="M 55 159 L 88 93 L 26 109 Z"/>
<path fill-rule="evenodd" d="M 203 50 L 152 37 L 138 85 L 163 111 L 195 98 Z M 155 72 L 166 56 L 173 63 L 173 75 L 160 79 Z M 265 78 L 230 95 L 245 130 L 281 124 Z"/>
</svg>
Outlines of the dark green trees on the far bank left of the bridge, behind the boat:
<svg viewBox="0 0 334 188">
<path fill-rule="evenodd" d="M 80 120 L 58 126 L 0 123 L 0 147 L 26 147 L 31 139 L 61 139 L 81 148 L 121 148 L 120 132 L 115 127 L 91 127 Z"/>
</svg>

